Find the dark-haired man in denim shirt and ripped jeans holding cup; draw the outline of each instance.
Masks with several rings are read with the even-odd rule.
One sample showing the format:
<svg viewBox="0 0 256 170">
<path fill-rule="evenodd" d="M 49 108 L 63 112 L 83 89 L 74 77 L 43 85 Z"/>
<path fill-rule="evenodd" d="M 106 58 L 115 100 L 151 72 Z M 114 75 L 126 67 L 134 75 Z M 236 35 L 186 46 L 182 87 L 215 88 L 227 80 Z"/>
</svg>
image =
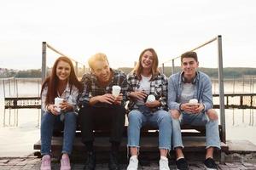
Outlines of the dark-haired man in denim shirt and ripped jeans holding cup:
<svg viewBox="0 0 256 170">
<path fill-rule="evenodd" d="M 213 149 L 220 149 L 218 115 L 212 109 L 212 82 L 203 72 L 197 71 L 199 62 L 195 52 L 181 55 L 183 71 L 168 80 L 168 107 L 172 115 L 172 140 L 176 151 L 177 169 L 189 169 L 183 156 L 180 124 L 206 126 L 207 153 L 204 161 L 207 169 L 217 169 Z"/>
</svg>

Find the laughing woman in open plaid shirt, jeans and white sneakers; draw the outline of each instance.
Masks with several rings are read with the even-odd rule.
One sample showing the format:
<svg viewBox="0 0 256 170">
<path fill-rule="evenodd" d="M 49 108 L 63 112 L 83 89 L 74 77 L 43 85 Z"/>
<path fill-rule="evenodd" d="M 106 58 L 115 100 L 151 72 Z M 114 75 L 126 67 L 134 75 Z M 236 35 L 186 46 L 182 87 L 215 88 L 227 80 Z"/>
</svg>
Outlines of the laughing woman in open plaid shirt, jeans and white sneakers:
<svg viewBox="0 0 256 170">
<path fill-rule="evenodd" d="M 171 150 L 172 119 L 166 111 L 167 79 L 158 70 L 158 57 L 153 48 L 143 50 L 127 81 L 131 110 L 128 115 L 131 158 L 127 170 L 137 170 L 140 130 L 145 124 L 159 127 L 160 170 L 169 170 L 167 154 Z M 147 100 L 149 94 L 153 100 Z"/>
</svg>

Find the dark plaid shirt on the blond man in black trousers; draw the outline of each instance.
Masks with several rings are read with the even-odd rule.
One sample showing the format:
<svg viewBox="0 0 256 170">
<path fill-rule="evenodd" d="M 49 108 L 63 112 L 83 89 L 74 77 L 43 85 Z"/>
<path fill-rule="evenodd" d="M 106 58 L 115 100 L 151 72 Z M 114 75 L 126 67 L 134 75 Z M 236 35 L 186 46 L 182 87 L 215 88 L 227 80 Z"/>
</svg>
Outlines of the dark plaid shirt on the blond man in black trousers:
<svg viewBox="0 0 256 170">
<path fill-rule="evenodd" d="M 109 82 L 108 86 L 105 88 L 102 88 L 99 85 L 95 74 L 93 74 L 92 72 L 84 74 L 82 78 L 82 83 L 84 84 L 84 91 L 82 94 L 80 94 L 79 105 L 83 106 L 89 104 L 91 97 L 104 94 L 112 94 L 113 85 L 119 85 L 121 87 L 120 94 L 123 94 L 122 105 L 125 105 L 125 102 L 127 100 L 126 96 L 128 88 L 126 75 L 122 71 L 116 71 L 113 69 L 110 69 L 110 71 L 113 71 L 113 77 L 112 80 Z M 95 106 L 108 107 L 108 104 L 96 103 Z"/>
</svg>

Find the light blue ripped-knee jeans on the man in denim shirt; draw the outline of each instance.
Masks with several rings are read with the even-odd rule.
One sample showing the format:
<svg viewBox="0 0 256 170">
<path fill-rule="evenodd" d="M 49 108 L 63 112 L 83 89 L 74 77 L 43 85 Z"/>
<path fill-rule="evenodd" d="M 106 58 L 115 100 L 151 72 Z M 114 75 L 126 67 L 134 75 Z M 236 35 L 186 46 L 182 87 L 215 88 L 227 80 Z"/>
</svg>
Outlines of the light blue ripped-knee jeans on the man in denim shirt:
<svg viewBox="0 0 256 170">
<path fill-rule="evenodd" d="M 180 124 L 189 124 L 192 126 L 206 126 L 207 148 L 216 147 L 220 149 L 220 140 L 218 133 L 218 120 L 212 121 L 207 113 L 189 114 L 183 112 L 181 119 L 172 118 L 172 142 L 173 148 L 184 147 L 181 135 Z"/>
</svg>

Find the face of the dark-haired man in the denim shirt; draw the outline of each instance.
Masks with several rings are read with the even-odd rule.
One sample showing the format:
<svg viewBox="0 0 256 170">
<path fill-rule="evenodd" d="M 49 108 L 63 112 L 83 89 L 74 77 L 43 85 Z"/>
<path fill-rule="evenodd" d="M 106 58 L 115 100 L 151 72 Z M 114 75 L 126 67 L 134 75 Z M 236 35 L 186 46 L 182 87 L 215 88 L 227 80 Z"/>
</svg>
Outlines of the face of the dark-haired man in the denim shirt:
<svg viewBox="0 0 256 170">
<path fill-rule="evenodd" d="M 182 60 L 182 69 L 184 72 L 184 77 L 193 78 L 195 77 L 195 71 L 198 68 L 198 61 L 193 58 L 183 58 Z"/>
</svg>

